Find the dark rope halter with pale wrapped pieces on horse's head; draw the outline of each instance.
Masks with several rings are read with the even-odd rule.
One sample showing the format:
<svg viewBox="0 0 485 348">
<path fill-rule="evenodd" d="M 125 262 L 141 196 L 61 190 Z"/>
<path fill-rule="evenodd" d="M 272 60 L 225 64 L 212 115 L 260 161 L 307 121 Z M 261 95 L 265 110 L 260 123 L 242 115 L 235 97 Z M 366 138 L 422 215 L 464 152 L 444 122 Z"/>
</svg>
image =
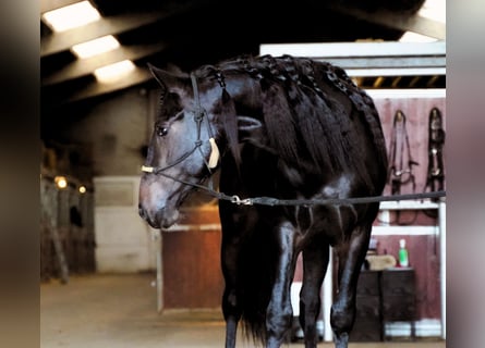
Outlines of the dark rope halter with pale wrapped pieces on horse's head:
<svg viewBox="0 0 485 348">
<path fill-rule="evenodd" d="M 195 77 L 194 74 L 191 74 L 191 80 L 192 80 L 192 88 L 194 90 L 194 100 L 195 100 L 195 116 L 194 116 L 194 121 L 197 124 L 197 139 L 195 140 L 194 147 L 186 151 L 185 153 L 183 153 L 179 159 L 177 159 L 174 162 L 166 165 L 166 166 L 148 166 L 148 165 L 142 165 L 142 172 L 145 173 L 153 173 L 156 175 L 163 175 L 167 176 L 169 178 L 172 179 L 177 179 L 171 175 L 168 175 L 166 173 L 163 173 L 165 171 L 167 171 L 168 169 L 175 166 L 177 164 L 183 162 L 185 159 L 187 159 L 190 156 L 192 156 L 192 153 L 195 152 L 195 150 L 198 149 L 198 151 L 201 152 L 201 156 L 204 160 L 204 163 L 206 165 L 206 167 L 208 169 L 209 173 L 211 172 L 213 169 L 215 169 L 217 166 L 217 162 L 219 160 L 219 150 L 217 148 L 216 145 L 216 140 L 214 139 L 213 136 L 213 132 L 210 128 L 210 124 L 208 123 L 209 121 L 207 120 L 207 128 L 208 128 L 208 133 L 209 133 L 209 142 L 210 142 L 210 156 L 209 156 L 209 161 L 207 162 L 204 153 L 202 152 L 201 146 L 203 145 L 203 141 L 201 139 L 201 129 L 202 129 L 202 122 L 204 121 L 204 116 L 207 114 L 206 111 L 201 107 L 201 99 L 198 97 L 198 88 L 197 88 L 197 78 Z M 179 179 L 177 179 L 179 181 Z M 179 181 L 180 182 L 180 181 Z"/>
</svg>

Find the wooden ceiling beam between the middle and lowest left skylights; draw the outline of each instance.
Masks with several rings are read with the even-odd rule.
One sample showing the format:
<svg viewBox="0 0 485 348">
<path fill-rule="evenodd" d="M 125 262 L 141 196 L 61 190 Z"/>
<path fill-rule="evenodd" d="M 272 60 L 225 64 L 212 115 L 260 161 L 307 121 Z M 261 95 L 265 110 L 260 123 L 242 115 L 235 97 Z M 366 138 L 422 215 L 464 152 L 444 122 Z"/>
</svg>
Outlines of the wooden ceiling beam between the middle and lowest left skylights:
<svg viewBox="0 0 485 348">
<path fill-rule="evenodd" d="M 60 84 L 69 79 L 74 79 L 93 74 L 94 71 L 98 67 L 122 60 L 136 61 L 141 58 L 162 51 L 166 48 L 167 45 L 163 42 L 154 45 L 137 45 L 130 47 L 121 46 L 116 50 L 98 54 L 96 57 L 77 59 L 69 65 L 65 65 L 64 67 L 56 71 L 53 74 L 43 77 L 41 84 L 43 86 Z"/>
</svg>

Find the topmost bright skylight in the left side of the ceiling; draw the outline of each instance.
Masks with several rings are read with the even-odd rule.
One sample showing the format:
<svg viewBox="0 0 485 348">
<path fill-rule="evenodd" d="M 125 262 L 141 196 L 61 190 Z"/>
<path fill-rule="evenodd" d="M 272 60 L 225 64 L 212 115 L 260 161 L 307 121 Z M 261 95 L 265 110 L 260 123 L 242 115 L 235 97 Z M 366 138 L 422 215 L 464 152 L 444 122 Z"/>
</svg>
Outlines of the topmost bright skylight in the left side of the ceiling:
<svg viewBox="0 0 485 348">
<path fill-rule="evenodd" d="M 101 15 L 89 1 L 81 1 L 64 8 L 45 12 L 41 17 L 52 30 L 64 32 L 95 22 L 99 20 Z"/>
</svg>

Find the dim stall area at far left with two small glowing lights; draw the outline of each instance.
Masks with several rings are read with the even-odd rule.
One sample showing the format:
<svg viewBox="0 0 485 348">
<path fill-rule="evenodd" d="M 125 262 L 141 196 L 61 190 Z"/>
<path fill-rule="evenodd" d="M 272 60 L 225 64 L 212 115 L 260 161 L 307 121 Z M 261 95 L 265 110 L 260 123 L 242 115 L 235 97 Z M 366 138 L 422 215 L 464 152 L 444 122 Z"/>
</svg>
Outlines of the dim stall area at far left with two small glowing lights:
<svg viewBox="0 0 485 348">
<path fill-rule="evenodd" d="M 40 167 L 40 279 L 69 282 L 70 274 L 96 271 L 94 191 L 76 176 L 66 156 L 43 148 Z M 68 174 L 69 173 L 69 174 Z"/>
</svg>

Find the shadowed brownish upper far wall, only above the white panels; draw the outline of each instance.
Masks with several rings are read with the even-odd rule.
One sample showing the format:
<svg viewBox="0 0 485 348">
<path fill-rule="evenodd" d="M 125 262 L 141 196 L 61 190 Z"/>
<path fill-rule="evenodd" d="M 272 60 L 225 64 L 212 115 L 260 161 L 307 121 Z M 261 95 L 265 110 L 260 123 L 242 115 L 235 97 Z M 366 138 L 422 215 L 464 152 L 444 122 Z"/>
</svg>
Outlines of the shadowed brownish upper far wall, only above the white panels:
<svg viewBox="0 0 485 348">
<path fill-rule="evenodd" d="M 155 91 L 132 88 L 86 110 L 63 136 L 90 151 L 95 176 L 138 175 L 153 127 Z M 65 115 L 70 117 L 70 115 Z"/>
</svg>

